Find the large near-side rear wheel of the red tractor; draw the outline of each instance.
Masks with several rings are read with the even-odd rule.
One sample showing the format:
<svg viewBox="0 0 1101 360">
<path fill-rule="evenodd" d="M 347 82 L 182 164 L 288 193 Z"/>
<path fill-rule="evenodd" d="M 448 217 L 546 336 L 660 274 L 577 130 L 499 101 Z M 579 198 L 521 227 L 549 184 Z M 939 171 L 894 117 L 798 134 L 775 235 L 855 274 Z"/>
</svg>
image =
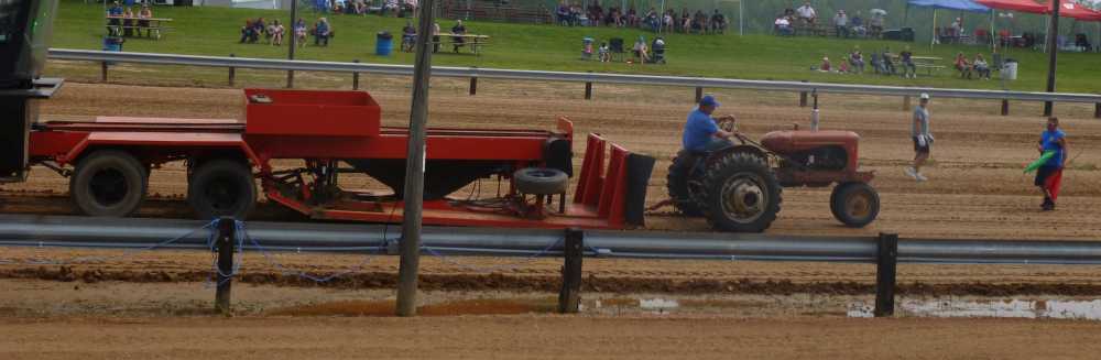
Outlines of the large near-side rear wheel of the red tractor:
<svg viewBox="0 0 1101 360">
<path fill-rule="evenodd" d="M 700 198 L 718 230 L 761 232 L 780 212 L 783 188 L 764 157 L 749 152 L 722 155 L 708 167 Z"/>
</svg>

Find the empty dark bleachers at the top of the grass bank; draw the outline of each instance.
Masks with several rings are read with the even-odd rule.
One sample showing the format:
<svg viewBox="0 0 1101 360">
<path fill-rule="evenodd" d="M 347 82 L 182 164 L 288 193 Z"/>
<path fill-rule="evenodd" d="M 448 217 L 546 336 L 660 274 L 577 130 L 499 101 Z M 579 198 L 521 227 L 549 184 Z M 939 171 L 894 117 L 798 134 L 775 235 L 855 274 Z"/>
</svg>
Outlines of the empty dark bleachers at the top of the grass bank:
<svg viewBox="0 0 1101 360">
<path fill-rule="evenodd" d="M 469 3 L 469 8 L 467 4 Z M 447 0 L 443 3 L 443 14 L 446 19 L 462 19 L 478 21 L 523 22 L 536 24 L 554 23 L 550 9 L 517 7 L 500 0 Z"/>
</svg>

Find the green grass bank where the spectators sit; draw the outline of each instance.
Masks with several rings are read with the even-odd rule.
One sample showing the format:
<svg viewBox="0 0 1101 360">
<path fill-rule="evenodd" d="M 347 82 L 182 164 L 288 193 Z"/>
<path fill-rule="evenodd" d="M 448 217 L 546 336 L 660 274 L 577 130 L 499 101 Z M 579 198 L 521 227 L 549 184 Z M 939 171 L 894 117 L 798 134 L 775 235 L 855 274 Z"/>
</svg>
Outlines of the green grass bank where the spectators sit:
<svg viewBox="0 0 1101 360">
<path fill-rule="evenodd" d="M 194 55 L 229 55 L 240 57 L 285 58 L 286 46 L 238 44 L 239 29 L 248 18 L 282 18 L 286 11 L 258 11 L 227 8 L 155 8 L 157 18 L 172 18 L 174 29 L 161 41 L 134 39 L 126 43 L 130 52 L 174 53 Z M 305 12 L 309 23 L 318 14 Z M 377 15 L 329 15 L 337 36 L 329 47 L 307 46 L 297 52 L 299 59 L 364 63 L 412 64 L 413 55 L 394 53 L 383 57 L 374 55 L 374 34 L 390 31 L 399 34 L 405 19 Z M 447 31 L 454 21 L 440 20 Z M 78 0 L 63 0 L 59 19 L 54 32 L 54 47 L 100 48 L 103 36 L 103 18 L 100 4 L 85 4 Z M 990 58 L 989 48 L 942 45 L 929 50 L 928 45 L 902 42 L 836 40 L 821 37 L 775 37 L 765 34 L 738 36 L 682 35 L 667 36 L 667 65 L 639 65 L 598 63 L 579 59 L 581 39 L 596 37 L 598 43 L 610 37 L 623 37 L 630 46 L 634 39 L 652 34 L 640 30 L 609 28 L 560 28 L 493 22 L 468 22 L 469 33 L 490 35 L 491 46 L 481 56 L 440 53 L 433 56 L 435 65 L 478 66 L 514 69 L 544 69 L 597 73 L 630 73 L 680 76 L 706 76 L 740 79 L 809 80 L 828 83 L 858 83 L 879 85 L 931 86 L 950 88 L 1001 88 L 1001 81 L 959 79 L 950 69 L 933 77 L 902 79 L 876 75 L 840 75 L 809 70 L 822 55 L 840 58 L 855 46 L 865 54 L 890 46 L 897 52 L 911 45 L 916 56 L 940 56 L 946 61 L 957 52 L 973 56 L 982 52 Z M 312 39 L 310 39 L 312 41 Z M 1007 57 L 1021 63 L 1018 79 L 1009 84 L 1013 90 L 1043 91 L 1046 84 L 1047 55 L 1038 52 L 1012 50 Z M 1101 55 L 1062 53 L 1058 63 L 1058 90 L 1067 92 L 1101 91 Z M 924 73 L 923 73 L 924 75 Z"/>
</svg>

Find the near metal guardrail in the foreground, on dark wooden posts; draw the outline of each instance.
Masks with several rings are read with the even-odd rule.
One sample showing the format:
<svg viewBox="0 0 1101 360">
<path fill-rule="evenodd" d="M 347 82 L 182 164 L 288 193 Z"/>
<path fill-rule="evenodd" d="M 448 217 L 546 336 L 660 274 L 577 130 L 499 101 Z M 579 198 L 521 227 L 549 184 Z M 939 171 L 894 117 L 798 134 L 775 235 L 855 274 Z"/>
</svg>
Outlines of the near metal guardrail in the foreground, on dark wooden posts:
<svg viewBox="0 0 1101 360">
<path fill-rule="evenodd" d="M 179 237 L 204 221 L 0 215 L 0 246 L 144 248 Z M 268 250 L 396 253 L 400 227 L 249 222 Z M 170 248 L 206 249 L 200 231 Z M 564 231 L 427 227 L 423 244 L 456 255 L 562 255 Z M 248 248 L 249 246 L 246 244 Z M 585 231 L 586 253 L 598 258 L 765 260 L 874 263 L 875 237 L 786 237 L 655 231 Z M 1101 264 L 1101 242 L 1026 240 L 898 240 L 898 262 Z"/>
</svg>

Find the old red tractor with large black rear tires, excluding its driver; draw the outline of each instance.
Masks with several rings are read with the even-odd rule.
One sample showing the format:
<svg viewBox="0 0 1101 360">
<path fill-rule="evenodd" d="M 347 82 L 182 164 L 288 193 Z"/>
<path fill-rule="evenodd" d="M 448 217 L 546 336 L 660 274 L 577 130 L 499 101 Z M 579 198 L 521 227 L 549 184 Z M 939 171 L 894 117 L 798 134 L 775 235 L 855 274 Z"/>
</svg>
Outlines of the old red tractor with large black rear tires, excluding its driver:
<svg viewBox="0 0 1101 360">
<path fill-rule="evenodd" d="M 731 124 L 732 126 L 732 124 Z M 668 173 L 668 193 L 684 215 L 702 216 L 718 230 L 760 232 L 776 219 L 783 187 L 825 187 L 833 217 L 860 228 L 879 215 L 880 198 L 858 171 L 860 135 L 850 131 L 774 131 L 755 143 L 708 152 L 680 151 Z"/>
</svg>

